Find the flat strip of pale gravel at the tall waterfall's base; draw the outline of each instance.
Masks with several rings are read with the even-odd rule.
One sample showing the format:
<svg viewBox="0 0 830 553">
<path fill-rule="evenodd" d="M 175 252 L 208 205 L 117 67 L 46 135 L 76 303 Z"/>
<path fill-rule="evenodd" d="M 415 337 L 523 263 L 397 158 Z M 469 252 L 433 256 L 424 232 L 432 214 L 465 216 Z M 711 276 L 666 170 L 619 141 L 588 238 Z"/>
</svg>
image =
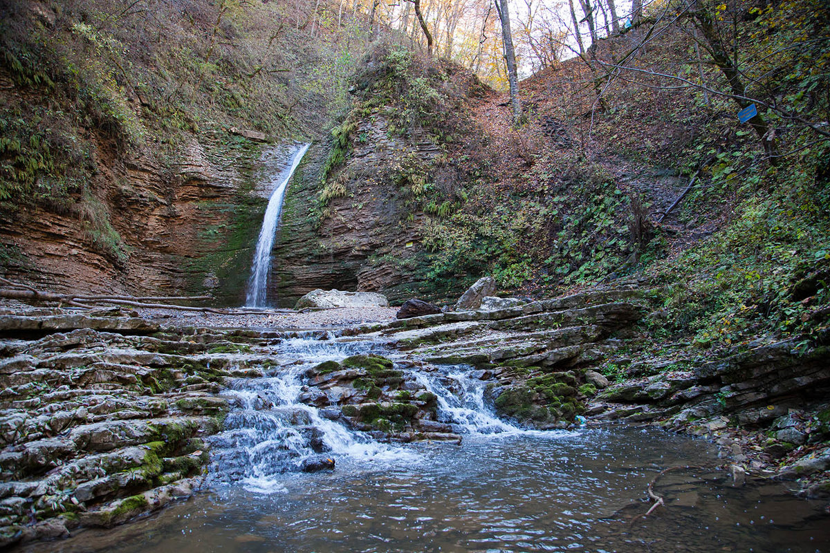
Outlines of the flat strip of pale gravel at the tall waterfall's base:
<svg viewBox="0 0 830 553">
<path fill-rule="evenodd" d="M 173 309 L 138 309 L 143 318 L 167 326 L 224 328 L 339 328 L 392 321 L 398 308 L 337 308 L 309 313 L 195 313 Z"/>
</svg>

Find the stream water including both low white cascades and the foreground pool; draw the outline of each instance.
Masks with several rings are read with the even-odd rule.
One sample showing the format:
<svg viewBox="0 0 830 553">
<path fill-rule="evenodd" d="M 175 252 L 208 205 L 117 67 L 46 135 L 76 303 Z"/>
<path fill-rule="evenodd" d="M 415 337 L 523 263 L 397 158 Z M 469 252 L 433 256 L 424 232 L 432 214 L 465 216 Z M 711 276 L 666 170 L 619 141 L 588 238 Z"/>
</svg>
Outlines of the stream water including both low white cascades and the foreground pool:
<svg viewBox="0 0 830 553">
<path fill-rule="evenodd" d="M 712 444 L 627 425 L 519 429 L 463 366 L 417 374 L 461 445 L 381 443 L 298 400 L 309 366 L 378 350 L 281 342 L 280 367 L 225 392 L 237 406 L 212 439 L 205 492 L 28 551 L 830 551 L 823 504 L 778 484 L 732 488 Z M 309 432 L 333 472 L 297 472 L 315 454 Z M 666 507 L 642 517 L 652 481 Z"/>
</svg>

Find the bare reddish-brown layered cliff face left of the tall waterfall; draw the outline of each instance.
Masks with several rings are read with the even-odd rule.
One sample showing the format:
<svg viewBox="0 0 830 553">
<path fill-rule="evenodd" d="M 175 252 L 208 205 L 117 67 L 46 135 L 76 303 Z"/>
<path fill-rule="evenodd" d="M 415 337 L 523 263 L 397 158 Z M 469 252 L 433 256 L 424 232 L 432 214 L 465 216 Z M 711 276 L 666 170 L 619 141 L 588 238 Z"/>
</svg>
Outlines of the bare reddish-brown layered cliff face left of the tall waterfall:
<svg viewBox="0 0 830 553">
<path fill-rule="evenodd" d="M 152 152 L 102 146 L 93 197 L 66 210 L 3 211 L 0 241 L 19 252 L 4 263 L 7 276 L 56 291 L 211 293 L 239 304 L 266 201 L 251 192 L 263 145 L 194 139 L 173 170 Z M 90 228 L 85 209 L 104 210 L 112 233 Z M 107 240 L 122 240 L 123 255 Z"/>
</svg>

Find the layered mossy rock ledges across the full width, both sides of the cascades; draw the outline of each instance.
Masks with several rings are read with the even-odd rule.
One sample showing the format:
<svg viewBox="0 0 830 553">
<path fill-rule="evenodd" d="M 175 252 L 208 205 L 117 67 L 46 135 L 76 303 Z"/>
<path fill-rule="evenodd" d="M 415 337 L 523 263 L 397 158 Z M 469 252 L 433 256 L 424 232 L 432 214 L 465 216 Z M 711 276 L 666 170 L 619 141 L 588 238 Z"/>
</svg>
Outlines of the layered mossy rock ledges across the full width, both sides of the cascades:
<svg viewBox="0 0 830 553">
<path fill-rule="evenodd" d="M 804 495 L 830 497 L 827 352 L 774 341 L 717 358 L 681 345 L 657 352 L 641 326 L 655 294 L 631 283 L 404 320 L 390 308 L 223 316 L 7 304 L 2 544 L 112 526 L 188 497 L 237 401 L 220 392 L 295 370 L 298 405 L 381 442 L 461 440 L 438 420 L 418 375 L 466 366 L 503 420 L 538 429 L 582 417 L 659 424 L 715 441 L 735 483 L 799 478 Z M 308 327 L 318 330 L 300 330 Z M 276 357 L 277 346 L 300 338 L 378 344 L 393 355 L 302 366 Z M 249 409 L 271 410 L 266 399 Z M 314 449 L 314 432 L 291 424 Z"/>
</svg>

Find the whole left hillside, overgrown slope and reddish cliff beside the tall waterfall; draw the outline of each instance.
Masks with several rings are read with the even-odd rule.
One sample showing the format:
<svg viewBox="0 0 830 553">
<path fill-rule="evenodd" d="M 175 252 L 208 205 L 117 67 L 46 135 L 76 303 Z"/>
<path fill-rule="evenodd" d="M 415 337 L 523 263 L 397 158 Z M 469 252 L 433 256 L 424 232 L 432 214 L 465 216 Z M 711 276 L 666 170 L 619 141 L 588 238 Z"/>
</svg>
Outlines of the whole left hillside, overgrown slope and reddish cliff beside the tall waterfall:
<svg viewBox="0 0 830 553">
<path fill-rule="evenodd" d="M 264 2 L 0 9 L 6 275 L 238 304 L 265 209 L 251 192 L 261 152 L 319 136 L 358 27 L 273 27 L 291 6 Z"/>
</svg>

